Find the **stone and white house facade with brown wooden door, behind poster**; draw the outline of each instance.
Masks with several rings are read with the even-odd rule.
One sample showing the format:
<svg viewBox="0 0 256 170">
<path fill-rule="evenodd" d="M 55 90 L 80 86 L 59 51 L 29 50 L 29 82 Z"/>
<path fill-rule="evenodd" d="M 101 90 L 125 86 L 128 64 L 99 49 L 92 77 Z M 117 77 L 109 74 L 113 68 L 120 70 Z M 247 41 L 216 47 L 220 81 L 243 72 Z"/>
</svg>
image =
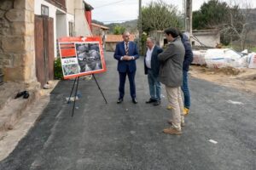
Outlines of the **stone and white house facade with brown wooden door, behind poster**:
<svg viewBox="0 0 256 170">
<path fill-rule="evenodd" d="M 84 0 L 1 0 L 0 69 L 4 82 L 53 78 L 57 39 L 91 36 Z"/>
</svg>

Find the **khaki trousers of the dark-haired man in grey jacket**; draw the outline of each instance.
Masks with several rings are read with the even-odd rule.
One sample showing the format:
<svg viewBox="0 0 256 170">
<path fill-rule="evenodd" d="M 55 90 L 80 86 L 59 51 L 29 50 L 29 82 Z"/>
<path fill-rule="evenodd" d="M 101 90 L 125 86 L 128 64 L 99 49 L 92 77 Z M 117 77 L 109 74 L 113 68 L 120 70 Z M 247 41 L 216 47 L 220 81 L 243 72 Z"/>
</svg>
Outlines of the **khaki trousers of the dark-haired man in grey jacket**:
<svg viewBox="0 0 256 170">
<path fill-rule="evenodd" d="M 184 122 L 183 99 L 181 88 L 171 88 L 166 86 L 167 99 L 172 106 L 172 126 L 181 130 L 181 122 Z"/>
</svg>

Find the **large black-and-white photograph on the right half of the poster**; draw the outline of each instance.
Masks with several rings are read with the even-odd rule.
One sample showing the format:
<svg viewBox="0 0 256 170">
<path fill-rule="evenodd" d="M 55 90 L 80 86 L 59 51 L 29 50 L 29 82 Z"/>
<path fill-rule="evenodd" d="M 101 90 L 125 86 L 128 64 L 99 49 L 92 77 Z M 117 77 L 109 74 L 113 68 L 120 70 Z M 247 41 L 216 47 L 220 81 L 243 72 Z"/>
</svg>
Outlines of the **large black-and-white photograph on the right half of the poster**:
<svg viewBox="0 0 256 170">
<path fill-rule="evenodd" d="M 102 70 L 102 60 L 98 42 L 75 43 L 80 72 Z"/>
</svg>

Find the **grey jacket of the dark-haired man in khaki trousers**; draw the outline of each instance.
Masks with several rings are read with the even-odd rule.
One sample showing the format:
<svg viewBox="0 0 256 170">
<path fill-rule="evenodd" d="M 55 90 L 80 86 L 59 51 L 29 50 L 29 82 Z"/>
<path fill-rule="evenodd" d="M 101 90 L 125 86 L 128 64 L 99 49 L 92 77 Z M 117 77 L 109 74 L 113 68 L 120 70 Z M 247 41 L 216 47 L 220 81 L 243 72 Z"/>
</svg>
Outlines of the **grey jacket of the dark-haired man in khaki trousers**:
<svg viewBox="0 0 256 170">
<path fill-rule="evenodd" d="M 172 88 L 182 85 L 184 55 L 185 48 L 180 37 L 169 42 L 164 52 L 158 55 L 160 60 L 160 82 Z"/>
</svg>

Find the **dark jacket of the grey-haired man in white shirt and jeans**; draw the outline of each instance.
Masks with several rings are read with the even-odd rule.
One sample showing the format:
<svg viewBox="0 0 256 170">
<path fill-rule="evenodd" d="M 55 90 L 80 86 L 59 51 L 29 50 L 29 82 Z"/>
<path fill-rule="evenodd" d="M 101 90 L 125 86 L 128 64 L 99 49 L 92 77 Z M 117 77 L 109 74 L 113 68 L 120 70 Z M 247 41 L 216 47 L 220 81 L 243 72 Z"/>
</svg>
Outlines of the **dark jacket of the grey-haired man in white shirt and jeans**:
<svg viewBox="0 0 256 170">
<path fill-rule="evenodd" d="M 162 53 L 163 49 L 154 45 L 153 51 L 152 51 L 152 56 L 151 56 L 151 69 L 153 71 L 154 77 L 158 77 L 159 75 L 159 68 L 160 68 L 160 62 L 157 58 L 158 54 Z M 148 67 L 146 65 L 146 56 L 145 55 L 145 59 L 144 59 L 144 71 L 145 74 L 148 74 Z"/>
</svg>

